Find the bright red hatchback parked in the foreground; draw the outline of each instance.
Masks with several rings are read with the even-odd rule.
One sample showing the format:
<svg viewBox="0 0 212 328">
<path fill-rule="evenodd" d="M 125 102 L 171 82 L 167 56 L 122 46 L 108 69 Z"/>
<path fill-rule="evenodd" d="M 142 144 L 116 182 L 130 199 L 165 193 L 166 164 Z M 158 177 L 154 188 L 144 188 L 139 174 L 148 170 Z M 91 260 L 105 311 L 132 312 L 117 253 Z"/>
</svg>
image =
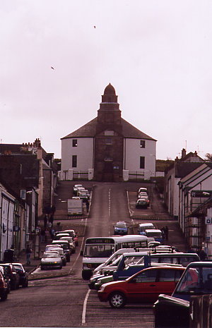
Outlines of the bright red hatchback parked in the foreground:
<svg viewBox="0 0 212 328">
<path fill-rule="evenodd" d="M 103 284 L 98 291 L 102 302 L 109 300 L 112 308 L 123 308 L 126 303 L 153 303 L 160 293 L 171 295 L 184 267 L 148 267 L 124 281 Z"/>
</svg>

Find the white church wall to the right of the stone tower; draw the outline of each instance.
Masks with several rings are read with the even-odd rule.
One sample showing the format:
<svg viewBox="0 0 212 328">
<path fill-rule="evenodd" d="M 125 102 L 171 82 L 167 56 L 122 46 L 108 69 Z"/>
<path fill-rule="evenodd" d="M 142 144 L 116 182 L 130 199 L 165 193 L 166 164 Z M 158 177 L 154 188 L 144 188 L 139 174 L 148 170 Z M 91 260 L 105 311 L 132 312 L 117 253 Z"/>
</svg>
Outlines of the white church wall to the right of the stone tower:
<svg viewBox="0 0 212 328">
<path fill-rule="evenodd" d="M 155 176 L 156 141 L 145 140 L 145 148 L 140 147 L 144 139 L 124 139 L 124 169 L 144 172 L 145 176 Z M 140 169 L 140 157 L 145 157 L 145 169 Z"/>
</svg>

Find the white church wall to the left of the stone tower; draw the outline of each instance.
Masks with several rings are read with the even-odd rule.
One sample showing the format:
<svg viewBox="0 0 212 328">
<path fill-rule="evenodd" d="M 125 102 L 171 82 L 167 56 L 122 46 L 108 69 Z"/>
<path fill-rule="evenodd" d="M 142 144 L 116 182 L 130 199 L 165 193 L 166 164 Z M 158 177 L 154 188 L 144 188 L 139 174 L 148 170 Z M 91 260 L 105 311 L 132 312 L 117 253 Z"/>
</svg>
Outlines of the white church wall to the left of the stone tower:
<svg viewBox="0 0 212 328">
<path fill-rule="evenodd" d="M 77 140 L 77 147 L 72 140 Z M 72 167 L 72 155 L 77 156 L 77 167 Z M 69 138 L 61 140 L 61 171 L 73 169 L 88 171 L 93 169 L 93 138 Z"/>
</svg>

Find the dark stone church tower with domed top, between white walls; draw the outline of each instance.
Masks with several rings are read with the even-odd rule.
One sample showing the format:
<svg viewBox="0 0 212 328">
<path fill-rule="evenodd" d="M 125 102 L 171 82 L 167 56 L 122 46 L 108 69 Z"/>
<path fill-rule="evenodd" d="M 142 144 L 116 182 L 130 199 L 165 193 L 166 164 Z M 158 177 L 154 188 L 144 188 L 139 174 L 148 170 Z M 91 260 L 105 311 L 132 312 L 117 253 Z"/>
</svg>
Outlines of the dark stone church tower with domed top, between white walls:
<svg viewBox="0 0 212 328">
<path fill-rule="evenodd" d="M 114 87 L 105 87 L 98 110 L 94 176 L 97 181 L 122 181 L 124 138 L 122 117 Z"/>
</svg>

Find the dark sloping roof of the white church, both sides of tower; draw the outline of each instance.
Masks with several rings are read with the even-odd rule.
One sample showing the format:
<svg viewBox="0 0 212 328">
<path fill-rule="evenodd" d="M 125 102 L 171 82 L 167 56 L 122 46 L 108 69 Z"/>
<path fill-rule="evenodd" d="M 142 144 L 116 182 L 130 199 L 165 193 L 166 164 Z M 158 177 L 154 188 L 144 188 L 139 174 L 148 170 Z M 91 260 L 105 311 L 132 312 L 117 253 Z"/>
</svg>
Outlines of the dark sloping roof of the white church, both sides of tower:
<svg viewBox="0 0 212 328">
<path fill-rule="evenodd" d="M 122 120 L 122 134 L 124 138 L 141 138 L 146 140 L 155 140 L 151 138 L 149 135 L 146 135 L 146 133 L 143 133 L 139 129 L 132 126 L 129 122 L 125 121 L 124 119 L 121 120 Z M 95 117 L 95 119 L 91 120 L 90 122 L 86 123 L 84 126 L 81 126 L 81 128 L 78 128 L 77 130 L 73 131 L 72 133 L 69 133 L 69 135 L 66 135 L 64 138 L 61 139 L 94 138 L 96 134 L 97 123 L 98 123 L 98 118 Z"/>
</svg>

